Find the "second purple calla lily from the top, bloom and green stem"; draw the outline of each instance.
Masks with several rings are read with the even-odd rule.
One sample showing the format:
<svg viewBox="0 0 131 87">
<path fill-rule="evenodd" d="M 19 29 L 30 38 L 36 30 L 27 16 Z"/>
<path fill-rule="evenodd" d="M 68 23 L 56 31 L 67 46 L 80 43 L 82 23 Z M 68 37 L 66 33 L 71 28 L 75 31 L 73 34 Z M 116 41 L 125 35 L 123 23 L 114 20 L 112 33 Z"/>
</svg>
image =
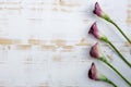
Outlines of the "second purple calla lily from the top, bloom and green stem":
<svg viewBox="0 0 131 87">
<path fill-rule="evenodd" d="M 118 53 L 118 55 L 131 67 L 131 63 L 128 62 L 128 60 L 119 52 L 119 50 L 108 40 L 108 38 L 100 33 L 100 30 L 98 29 L 96 23 L 94 23 L 91 28 L 88 34 L 92 34 L 96 39 L 103 40 L 104 42 L 110 45 L 112 47 L 112 49 Z M 95 46 L 94 46 L 95 47 Z M 95 51 L 94 51 L 95 52 Z M 95 54 L 94 54 L 95 55 Z"/>
</svg>

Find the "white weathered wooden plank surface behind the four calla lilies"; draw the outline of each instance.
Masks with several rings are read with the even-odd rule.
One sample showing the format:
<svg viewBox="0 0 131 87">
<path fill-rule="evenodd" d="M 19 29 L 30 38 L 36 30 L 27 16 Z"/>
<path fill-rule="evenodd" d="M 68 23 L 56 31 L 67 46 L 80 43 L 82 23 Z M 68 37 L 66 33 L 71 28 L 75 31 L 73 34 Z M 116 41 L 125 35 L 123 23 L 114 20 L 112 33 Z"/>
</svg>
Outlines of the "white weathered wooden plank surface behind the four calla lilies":
<svg viewBox="0 0 131 87">
<path fill-rule="evenodd" d="M 130 0 L 0 0 L 0 87 L 111 87 L 87 77 L 92 62 L 118 87 L 128 85 L 107 65 L 92 59 L 92 23 L 131 62 L 131 46 L 92 11 L 98 1 L 131 37 Z M 129 80 L 131 70 L 104 42 L 105 55 Z"/>
</svg>

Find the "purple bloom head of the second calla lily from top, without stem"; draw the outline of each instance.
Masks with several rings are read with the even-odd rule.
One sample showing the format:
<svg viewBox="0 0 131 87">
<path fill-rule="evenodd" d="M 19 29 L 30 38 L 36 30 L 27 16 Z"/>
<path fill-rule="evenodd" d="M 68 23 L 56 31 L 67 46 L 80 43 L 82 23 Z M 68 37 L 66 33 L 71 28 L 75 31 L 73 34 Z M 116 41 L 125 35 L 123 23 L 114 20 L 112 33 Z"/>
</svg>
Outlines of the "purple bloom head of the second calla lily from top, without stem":
<svg viewBox="0 0 131 87">
<path fill-rule="evenodd" d="M 96 22 L 91 26 L 88 34 L 92 34 L 97 39 L 107 41 L 107 37 L 99 32 Z"/>
</svg>

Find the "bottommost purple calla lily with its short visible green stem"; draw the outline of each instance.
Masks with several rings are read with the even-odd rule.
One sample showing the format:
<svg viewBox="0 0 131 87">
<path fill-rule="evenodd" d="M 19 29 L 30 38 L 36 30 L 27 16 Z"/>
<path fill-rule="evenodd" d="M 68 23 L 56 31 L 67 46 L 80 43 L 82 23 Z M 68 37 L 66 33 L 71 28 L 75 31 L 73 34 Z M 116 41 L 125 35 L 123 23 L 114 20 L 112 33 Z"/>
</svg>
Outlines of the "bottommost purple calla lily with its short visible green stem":
<svg viewBox="0 0 131 87">
<path fill-rule="evenodd" d="M 95 63 L 92 63 L 92 66 L 88 71 L 88 77 L 93 80 L 103 80 L 111 84 L 114 87 L 117 87 L 110 79 L 97 71 Z"/>
</svg>

